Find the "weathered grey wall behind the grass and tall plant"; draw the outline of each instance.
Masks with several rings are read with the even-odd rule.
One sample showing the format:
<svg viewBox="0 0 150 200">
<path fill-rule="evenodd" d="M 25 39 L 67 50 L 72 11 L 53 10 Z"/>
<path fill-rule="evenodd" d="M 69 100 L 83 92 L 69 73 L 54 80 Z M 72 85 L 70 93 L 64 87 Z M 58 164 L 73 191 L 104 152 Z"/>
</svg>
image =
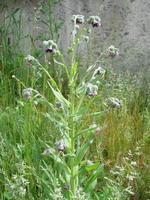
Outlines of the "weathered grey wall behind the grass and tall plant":
<svg viewBox="0 0 150 200">
<path fill-rule="evenodd" d="M 4 1 L 0 1 L 4 3 Z M 37 34 L 41 27 L 34 26 L 34 7 L 39 1 L 18 0 L 10 3 L 10 9 L 20 7 L 23 11 L 24 35 Z M 102 27 L 95 30 L 92 47 L 98 52 L 114 44 L 121 51 L 117 64 L 121 68 L 139 69 L 150 63 L 150 1 L 149 0 L 63 0 L 55 10 L 56 18 L 64 25 L 60 39 L 63 47 L 68 45 L 72 14 L 99 15 Z M 42 30 L 43 32 L 45 30 Z M 26 39 L 24 48 L 30 51 Z"/>
</svg>

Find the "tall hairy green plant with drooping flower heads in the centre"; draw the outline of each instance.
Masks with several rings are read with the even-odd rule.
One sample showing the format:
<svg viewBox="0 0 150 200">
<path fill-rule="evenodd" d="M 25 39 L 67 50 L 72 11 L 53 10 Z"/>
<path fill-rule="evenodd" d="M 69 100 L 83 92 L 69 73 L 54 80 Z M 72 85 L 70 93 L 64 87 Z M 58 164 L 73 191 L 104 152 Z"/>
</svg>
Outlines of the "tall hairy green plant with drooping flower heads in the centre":
<svg viewBox="0 0 150 200">
<path fill-rule="evenodd" d="M 82 81 L 79 80 L 78 48 L 82 40 L 89 38 L 89 27 L 86 27 L 89 19 L 85 26 L 83 16 L 73 16 L 73 19 L 73 37 L 68 50 L 69 59 L 64 57 L 54 41 L 43 42 L 46 47 L 45 54 L 49 53 L 49 56 L 53 56 L 55 67 L 57 66 L 56 71 L 60 70 L 65 74 L 67 94 L 63 95 L 64 88 L 59 84 L 58 78 L 55 79 L 51 75 L 46 65 L 41 64 L 32 56 L 27 56 L 26 60 L 31 65 L 34 62 L 37 69 L 47 76 L 46 83 L 53 98 L 49 99 L 37 91 L 36 84 L 33 85 L 35 88 L 24 89 L 23 97 L 26 99 L 26 103 L 27 101 L 33 102 L 36 98 L 44 102 L 47 110 L 42 115 L 50 120 L 50 123 L 53 123 L 58 131 L 54 143 L 45 148 L 41 154 L 43 159 L 44 156 L 49 156 L 52 160 L 52 165 L 55 166 L 54 174 L 59 180 L 59 187 L 62 188 L 61 192 L 63 192 L 64 198 L 75 199 L 77 196 L 81 196 L 83 199 L 84 196 L 84 199 L 90 199 L 96 188 L 97 178 L 103 170 L 103 165 L 99 162 L 87 162 L 86 155 L 95 139 L 97 126 L 82 126 L 81 122 L 88 117 L 96 119 L 105 113 L 101 110 L 93 113 L 89 111 L 94 98 L 98 95 L 99 81 L 97 81 L 97 77 L 103 79 L 105 70 L 101 67 L 97 68 L 97 62 L 95 62 L 86 70 Z M 98 17 L 91 19 L 99 20 Z M 49 57 L 46 56 L 46 59 L 46 63 L 48 63 Z M 24 86 L 24 84 L 22 85 Z M 89 103 L 84 106 L 87 99 Z"/>
</svg>

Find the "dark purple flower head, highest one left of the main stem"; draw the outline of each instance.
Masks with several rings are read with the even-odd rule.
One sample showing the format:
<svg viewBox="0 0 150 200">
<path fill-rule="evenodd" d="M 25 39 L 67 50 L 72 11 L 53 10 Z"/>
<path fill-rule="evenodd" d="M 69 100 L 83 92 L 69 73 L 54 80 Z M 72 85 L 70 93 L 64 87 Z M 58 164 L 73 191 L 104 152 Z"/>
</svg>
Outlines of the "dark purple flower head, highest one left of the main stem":
<svg viewBox="0 0 150 200">
<path fill-rule="evenodd" d="M 57 44 L 53 40 L 43 41 L 43 45 L 45 46 L 46 53 L 56 53 L 57 52 Z"/>
</svg>

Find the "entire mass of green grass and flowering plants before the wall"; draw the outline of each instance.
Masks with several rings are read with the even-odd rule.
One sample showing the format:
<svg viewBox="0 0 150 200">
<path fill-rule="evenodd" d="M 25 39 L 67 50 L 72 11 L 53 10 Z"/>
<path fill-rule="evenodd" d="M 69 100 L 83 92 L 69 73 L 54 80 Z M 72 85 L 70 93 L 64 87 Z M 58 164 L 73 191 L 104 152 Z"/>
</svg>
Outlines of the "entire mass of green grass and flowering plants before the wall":
<svg viewBox="0 0 150 200">
<path fill-rule="evenodd" d="M 38 9 L 50 27 L 48 8 L 55 3 Z M 67 56 L 56 43 L 60 23 L 47 29 L 50 39 L 28 36 L 31 55 L 25 55 L 21 11 L 6 19 L 0 28 L 1 199 L 148 200 L 150 83 L 142 72 L 114 71 L 119 49 L 113 45 L 84 66 L 79 47 L 101 19 L 72 17 Z"/>
</svg>

